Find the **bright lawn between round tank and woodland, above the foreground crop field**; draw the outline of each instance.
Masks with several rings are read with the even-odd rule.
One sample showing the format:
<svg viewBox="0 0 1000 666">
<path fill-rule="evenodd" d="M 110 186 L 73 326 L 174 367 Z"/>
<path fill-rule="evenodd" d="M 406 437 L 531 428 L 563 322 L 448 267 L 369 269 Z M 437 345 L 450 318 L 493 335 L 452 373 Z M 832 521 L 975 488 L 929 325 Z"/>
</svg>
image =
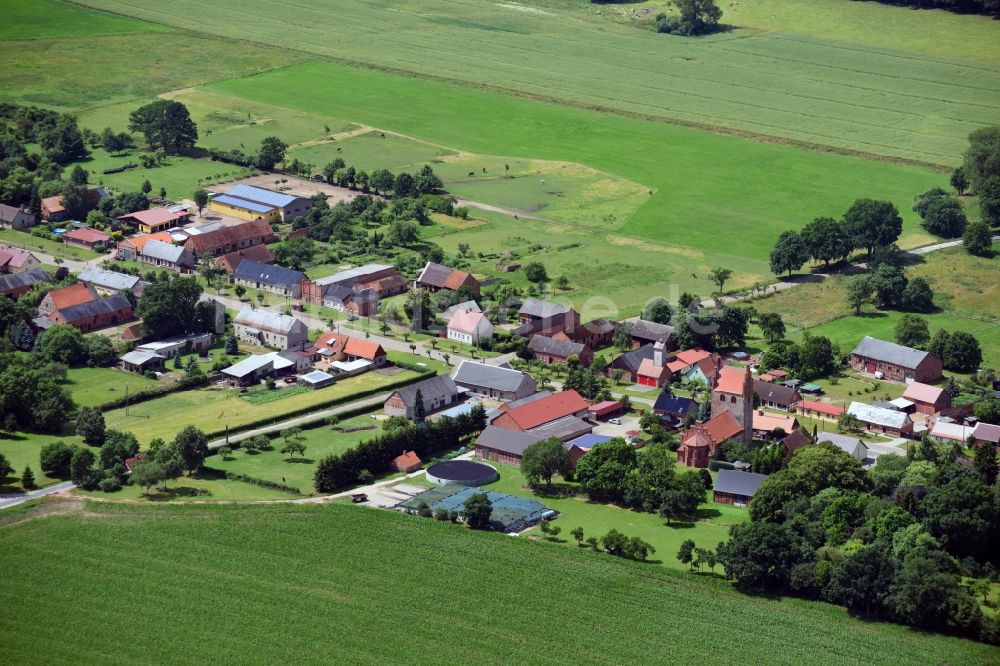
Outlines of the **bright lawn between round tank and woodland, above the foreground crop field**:
<svg viewBox="0 0 1000 666">
<path fill-rule="evenodd" d="M 631 511 L 610 504 L 596 504 L 582 497 L 554 497 L 544 491 L 536 493 L 527 486 L 519 468 L 510 465 L 494 466 L 500 472 L 500 480 L 487 488 L 530 497 L 558 511 L 559 518 L 556 522 L 562 528 L 559 539 L 570 547 L 577 547 L 569 534 L 575 527 L 582 527 L 585 537 L 597 538 L 607 534 L 609 530 L 616 529 L 627 536 L 641 537 L 651 543 L 656 548 L 656 556 L 653 559 L 660 560 L 664 566 L 673 569 L 686 568 L 676 557 L 677 550 L 685 540 L 693 539 L 703 548 L 714 549 L 720 542 L 729 538 L 730 525 L 749 518 L 746 509 L 708 502 L 699 509 L 698 520 L 668 526 L 664 519 L 655 513 Z M 528 534 L 540 536 L 537 530 L 531 530 Z"/>
</svg>

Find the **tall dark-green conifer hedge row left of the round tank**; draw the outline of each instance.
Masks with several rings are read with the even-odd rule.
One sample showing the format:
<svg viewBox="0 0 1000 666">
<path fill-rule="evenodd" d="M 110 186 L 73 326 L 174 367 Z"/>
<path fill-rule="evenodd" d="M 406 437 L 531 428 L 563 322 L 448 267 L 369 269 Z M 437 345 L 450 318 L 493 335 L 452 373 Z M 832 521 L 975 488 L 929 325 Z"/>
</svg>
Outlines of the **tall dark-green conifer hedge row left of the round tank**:
<svg viewBox="0 0 1000 666">
<path fill-rule="evenodd" d="M 316 467 L 316 490 L 329 493 L 357 485 L 362 472 L 378 476 L 389 471 L 389 463 L 404 451 L 414 451 L 421 460 L 429 460 L 463 446 L 485 427 L 486 410 L 477 405 L 455 418 L 444 417 L 382 433 L 341 454 L 323 458 Z"/>
</svg>

